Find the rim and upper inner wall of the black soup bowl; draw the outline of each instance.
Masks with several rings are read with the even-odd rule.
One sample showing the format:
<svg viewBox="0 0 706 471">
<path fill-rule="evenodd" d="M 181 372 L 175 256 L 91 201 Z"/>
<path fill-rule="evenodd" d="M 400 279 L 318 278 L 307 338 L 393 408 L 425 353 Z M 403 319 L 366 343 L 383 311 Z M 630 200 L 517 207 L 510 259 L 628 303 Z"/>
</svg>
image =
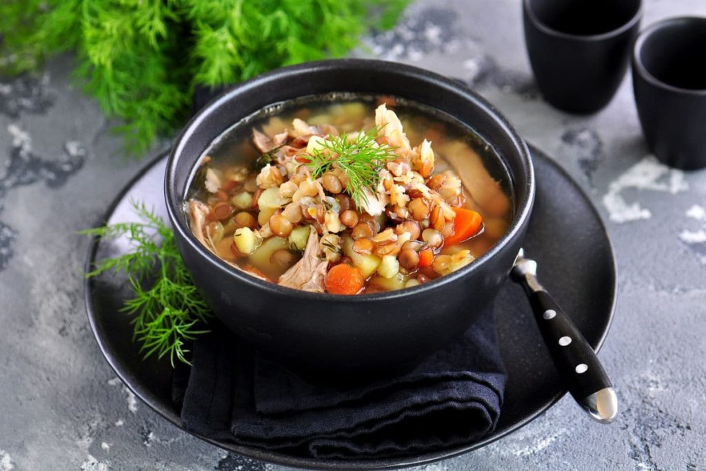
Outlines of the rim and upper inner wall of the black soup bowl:
<svg viewBox="0 0 706 471">
<path fill-rule="evenodd" d="M 297 290 L 295 288 L 283 287 L 277 285 L 273 282 L 266 282 L 256 278 L 248 273 L 245 273 L 237 268 L 233 268 L 229 264 L 222 261 L 221 258 L 217 257 L 213 252 L 208 250 L 201 242 L 191 232 L 191 228 L 186 225 L 186 218 L 182 219 L 179 217 L 179 213 L 182 212 L 181 203 L 184 201 L 183 194 L 175 194 L 176 190 L 176 179 L 177 179 L 177 168 L 184 160 L 184 147 L 185 143 L 191 138 L 193 133 L 199 129 L 203 124 L 205 117 L 208 117 L 220 106 L 224 105 L 226 102 L 234 100 L 241 93 L 246 93 L 250 90 L 257 89 L 265 84 L 273 83 L 277 81 L 282 81 L 285 79 L 291 79 L 299 74 L 306 73 L 316 73 L 317 71 L 331 70 L 336 68 L 357 68 L 359 71 L 361 68 L 378 68 L 384 67 L 395 73 L 399 73 L 400 76 L 412 76 L 412 78 L 417 78 L 421 81 L 426 81 L 429 85 L 436 87 L 445 88 L 449 91 L 453 91 L 458 95 L 462 95 L 468 102 L 470 106 L 473 106 L 479 111 L 486 115 L 486 118 L 491 119 L 495 126 L 498 126 L 503 133 L 505 133 L 513 145 L 513 148 L 517 151 L 517 155 L 520 159 L 520 165 L 522 167 L 523 173 L 525 173 L 526 184 L 524 188 L 516 189 L 515 193 L 515 215 L 513 215 L 513 220 L 510 222 L 510 226 L 503 236 L 498 239 L 498 242 L 491 246 L 489 251 L 477 258 L 470 263 L 468 266 L 457 270 L 449 275 L 444 275 L 432 280 L 429 283 L 424 283 L 423 285 L 418 285 L 414 287 L 407 287 L 402 290 L 393 290 L 388 292 L 378 292 L 372 294 L 364 294 L 362 296 L 354 295 L 344 295 L 344 294 L 330 294 L 330 293 L 318 293 L 318 292 L 308 292 L 304 290 Z M 340 91 L 345 92 L 349 90 L 333 90 L 330 91 Z M 324 94 L 312 93 L 312 95 Z M 303 95 L 304 96 L 304 95 Z M 404 95 L 400 95 L 404 97 Z M 267 106 L 267 105 L 265 105 Z M 443 111 L 443 110 L 441 110 Z M 453 115 L 452 115 L 453 116 Z M 242 119 L 243 117 L 238 117 Z M 223 130 L 225 131 L 225 129 Z M 481 136 L 482 137 L 482 136 Z M 227 275 L 231 278 L 239 280 L 239 282 L 244 282 L 253 288 L 258 290 L 263 290 L 265 292 L 270 292 L 270 294 L 278 295 L 294 295 L 303 297 L 304 299 L 310 299 L 311 301 L 327 301 L 327 302 L 349 302 L 354 304 L 369 304 L 380 302 L 381 300 L 390 301 L 394 299 L 400 299 L 407 297 L 409 295 L 421 295 L 427 292 L 433 292 L 437 287 L 441 285 L 455 282 L 461 278 L 465 278 L 470 273 L 474 273 L 477 270 L 481 270 L 490 258 L 493 258 L 496 254 L 503 251 L 505 246 L 510 244 L 510 241 L 515 239 L 518 234 L 525 227 L 525 223 L 530 217 L 532 212 L 532 205 L 534 203 L 535 194 L 535 176 L 534 176 L 534 166 L 532 165 L 532 157 L 530 151 L 527 148 L 527 144 L 520 137 L 520 135 L 515 131 L 513 126 L 509 121 L 493 107 L 489 102 L 487 102 L 483 97 L 475 93 L 474 91 L 462 85 L 460 82 L 455 81 L 451 78 L 441 76 L 437 73 L 427 71 L 422 68 L 409 66 L 406 64 L 399 64 L 389 61 L 381 61 L 377 59 L 329 59 L 325 61 L 315 61 L 307 62 L 304 64 L 287 66 L 282 68 L 277 68 L 273 71 L 263 73 L 259 76 L 251 78 L 248 81 L 244 81 L 233 88 L 225 90 L 220 93 L 217 97 L 211 100 L 207 105 L 205 105 L 199 112 L 197 112 L 189 121 L 184 129 L 179 133 L 179 136 L 174 141 L 171 150 L 169 150 L 169 158 L 167 160 L 167 169 L 164 174 L 164 198 L 167 206 L 167 214 L 169 215 L 169 220 L 172 222 L 172 227 L 175 232 L 179 233 L 179 237 L 189 248 L 196 251 L 199 256 L 208 261 L 214 269 L 220 270 L 221 273 Z M 172 202 L 179 202 L 177 207 L 174 207 Z M 508 267 L 509 270 L 509 267 Z"/>
</svg>

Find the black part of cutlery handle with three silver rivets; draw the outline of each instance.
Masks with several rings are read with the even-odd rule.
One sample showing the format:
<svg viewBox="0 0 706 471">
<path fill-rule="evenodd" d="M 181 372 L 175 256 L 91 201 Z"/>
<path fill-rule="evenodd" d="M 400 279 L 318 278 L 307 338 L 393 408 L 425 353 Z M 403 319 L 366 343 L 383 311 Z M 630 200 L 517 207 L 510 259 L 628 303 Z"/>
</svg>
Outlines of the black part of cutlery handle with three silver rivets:
<svg viewBox="0 0 706 471">
<path fill-rule="evenodd" d="M 544 342 L 573 397 L 581 402 L 613 385 L 593 348 L 571 319 L 544 290 L 530 292 L 530 302 Z"/>
</svg>

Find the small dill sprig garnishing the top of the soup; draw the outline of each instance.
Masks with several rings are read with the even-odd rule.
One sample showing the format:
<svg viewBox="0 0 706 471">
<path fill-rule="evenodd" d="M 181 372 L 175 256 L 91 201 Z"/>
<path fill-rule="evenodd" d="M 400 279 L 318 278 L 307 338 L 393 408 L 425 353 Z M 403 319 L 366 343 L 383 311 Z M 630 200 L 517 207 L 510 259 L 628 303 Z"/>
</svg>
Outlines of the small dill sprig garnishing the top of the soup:
<svg viewBox="0 0 706 471">
<path fill-rule="evenodd" d="M 395 148 L 376 141 L 380 131 L 375 126 L 370 131 L 361 132 L 355 142 L 349 142 L 347 134 L 328 136 L 321 144 L 323 148 L 315 150 L 306 164 L 312 177 L 321 177 L 334 166 L 340 168 L 348 179 L 345 191 L 360 209 L 368 201 L 364 189 L 375 193 L 380 181 L 378 170 L 385 167 L 385 162 L 397 157 Z"/>
</svg>

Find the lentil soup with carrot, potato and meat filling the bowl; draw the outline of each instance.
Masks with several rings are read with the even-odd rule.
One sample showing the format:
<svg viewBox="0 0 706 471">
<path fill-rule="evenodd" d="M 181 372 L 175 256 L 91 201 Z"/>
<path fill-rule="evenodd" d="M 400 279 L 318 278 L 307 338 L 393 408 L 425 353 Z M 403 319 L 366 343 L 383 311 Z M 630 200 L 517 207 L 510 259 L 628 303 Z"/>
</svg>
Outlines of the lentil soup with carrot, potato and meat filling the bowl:
<svg viewBox="0 0 706 471">
<path fill-rule="evenodd" d="M 312 292 L 398 290 L 505 233 L 508 174 L 476 133 L 393 97 L 309 97 L 232 126 L 186 195 L 191 230 L 239 270 Z"/>
</svg>

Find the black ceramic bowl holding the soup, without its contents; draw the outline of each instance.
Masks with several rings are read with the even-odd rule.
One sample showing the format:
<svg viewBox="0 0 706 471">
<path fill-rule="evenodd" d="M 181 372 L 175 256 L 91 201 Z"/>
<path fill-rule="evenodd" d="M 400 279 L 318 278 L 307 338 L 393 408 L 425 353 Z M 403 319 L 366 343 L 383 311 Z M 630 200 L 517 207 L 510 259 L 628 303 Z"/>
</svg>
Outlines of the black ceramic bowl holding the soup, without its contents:
<svg viewBox="0 0 706 471">
<path fill-rule="evenodd" d="M 340 296 L 292 290 L 228 266 L 191 233 L 184 193 L 193 166 L 234 122 L 275 102 L 351 92 L 397 95 L 471 126 L 501 155 L 515 215 L 508 232 L 470 266 L 418 287 Z M 461 335 L 489 309 L 525 237 L 534 201 L 527 146 L 491 105 L 448 78 L 383 61 L 343 59 L 280 68 L 217 97 L 187 124 L 167 162 L 169 219 L 193 282 L 240 338 L 296 371 L 378 374 L 405 369 Z"/>
</svg>

